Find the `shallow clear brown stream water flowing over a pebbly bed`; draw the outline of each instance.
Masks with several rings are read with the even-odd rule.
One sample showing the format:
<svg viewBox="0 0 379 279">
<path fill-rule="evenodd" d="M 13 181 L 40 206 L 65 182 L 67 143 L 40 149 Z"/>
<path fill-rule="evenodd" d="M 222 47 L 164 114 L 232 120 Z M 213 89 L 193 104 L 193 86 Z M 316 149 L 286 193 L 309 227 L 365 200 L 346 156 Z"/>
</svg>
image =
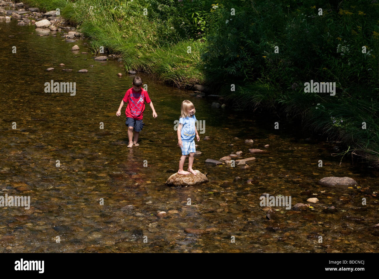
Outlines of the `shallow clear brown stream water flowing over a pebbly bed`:
<svg viewBox="0 0 379 279">
<path fill-rule="evenodd" d="M 81 54 L 91 52 L 84 40 L 66 43 L 59 32 L 38 36 L 33 26 L 17 26 L 14 20 L 0 22 L 0 28 L 1 195 L 31 197 L 30 210 L 0 207 L 2 252 L 377 250 L 378 232 L 372 226 L 378 223 L 373 194 L 378 173 L 354 169 L 349 161 L 339 166 L 329 143 L 306 141 L 284 122 L 275 130 L 277 119 L 269 115 L 210 109 L 210 100 L 189 97 L 187 91 L 141 74 L 158 118 L 147 106 L 140 146 L 128 149 L 125 115 L 116 117 L 116 111 L 132 77 L 117 60 L 94 61 L 91 54 Z M 74 44 L 80 52 L 70 50 Z M 50 67 L 55 69 L 46 71 Z M 77 73 L 80 69 L 88 73 Z M 117 77 L 119 72 L 124 76 Z M 76 95 L 45 93 L 50 80 L 75 82 Z M 183 99 L 191 99 L 196 118 L 206 122 L 194 169 L 208 172 L 209 183 L 169 188 L 164 182 L 177 171 L 180 158 L 174 121 Z M 204 163 L 236 151 L 252 157 L 249 148 L 266 144 L 268 153 L 254 155 L 249 169 Z M 241 179 L 234 183 L 237 176 Z M 328 176 L 354 178 L 361 188 L 316 184 Z M 320 201 L 304 212 L 274 207 L 267 219 L 259 205 L 262 193 L 291 196 L 292 205 L 309 197 Z M 330 205 L 337 208 L 333 214 L 323 211 Z M 158 218 L 157 211 L 167 216 Z M 186 228 L 206 232 L 190 234 Z"/>
</svg>

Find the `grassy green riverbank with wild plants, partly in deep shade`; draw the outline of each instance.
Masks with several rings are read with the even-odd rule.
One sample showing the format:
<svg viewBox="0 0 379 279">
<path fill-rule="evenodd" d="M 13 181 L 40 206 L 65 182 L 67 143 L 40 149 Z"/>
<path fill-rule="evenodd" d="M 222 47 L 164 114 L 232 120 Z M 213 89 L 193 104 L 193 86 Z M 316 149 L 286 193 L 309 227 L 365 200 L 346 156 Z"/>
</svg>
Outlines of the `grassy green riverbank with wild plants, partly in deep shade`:
<svg viewBox="0 0 379 279">
<path fill-rule="evenodd" d="M 340 154 L 379 165 L 375 2 L 324 3 L 320 14 L 316 6 L 286 8 L 270 1 L 247 9 L 251 13 L 237 12 L 244 22 L 233 21 L 234 2 L 195 9 L 182 1 L 184 11 L 176 2 L 142 0 L 25 3 L 46 11 L 59 8 L 91 39 L 94 51 L 103 46 L 105 52 L 120 54 L 127 70 L 182 88 L 208 84 L 234 109 L 271 109 L 280 118 L 292 117 L 304 129 L 343 146 Z M 244 5 L 251 4 L 234 6 L 241 11 Z M 193 27 L 188 20 L 191 9 L 197 23 L 207 19 L 204 26 L 194 20 Z M 273 12 L 265 16 L 269 9 Z M 334 92 L 307 92 L 305 83 L 312 81 L 332 82 Z"/>
</svg>

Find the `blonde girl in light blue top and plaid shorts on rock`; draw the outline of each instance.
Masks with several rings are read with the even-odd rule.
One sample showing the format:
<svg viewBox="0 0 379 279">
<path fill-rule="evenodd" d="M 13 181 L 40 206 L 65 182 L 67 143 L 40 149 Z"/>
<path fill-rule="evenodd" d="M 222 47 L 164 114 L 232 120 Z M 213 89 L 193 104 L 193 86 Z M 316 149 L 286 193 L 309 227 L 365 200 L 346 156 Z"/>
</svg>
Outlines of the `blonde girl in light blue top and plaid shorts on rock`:
<svg viewBox="0 0 379 279">
<path fill-rule="evenodd" d="M 182 157 L 180 157 L 179 161 L 179 174 L 187 175 L 189 172 L 196 175 L 196 172 L 192 169 L 194 155 L 196 152 L 195 149 L 195 135 L 197 141 L 200 140 L 199 134 L 197 134 L 196 130 L 196 117 L 195 117 L 195 106 L 192 102 L 188 100 L 184 100 L 182 102 L 181 109 L 181 117 L 179 119 L 178 126 L 178 145 L 182 148 Z M 188 158 L 188 171 L 183 170 L 184 162 Z"/>
</svg>

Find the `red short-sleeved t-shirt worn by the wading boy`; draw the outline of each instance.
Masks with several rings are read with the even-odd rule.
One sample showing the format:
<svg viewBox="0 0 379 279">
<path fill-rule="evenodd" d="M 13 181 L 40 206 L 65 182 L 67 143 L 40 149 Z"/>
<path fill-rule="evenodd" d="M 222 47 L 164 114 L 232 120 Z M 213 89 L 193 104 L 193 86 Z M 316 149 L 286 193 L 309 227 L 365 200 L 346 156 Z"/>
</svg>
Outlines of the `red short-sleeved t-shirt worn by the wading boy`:
<svg viewBox="0 0 379 279">
<path fill-rule="evenodd" d="M 146 90 L 141 88 L 137 92 L 133 87 L 126 91 L 125 96 L 122 100 L 128 103 L 128 106 L 125 110 L 126 117 L 131 117 L 136 120 L 141 120 L 143 118 L 145 102 L 151 102 Z"/>
</svg>

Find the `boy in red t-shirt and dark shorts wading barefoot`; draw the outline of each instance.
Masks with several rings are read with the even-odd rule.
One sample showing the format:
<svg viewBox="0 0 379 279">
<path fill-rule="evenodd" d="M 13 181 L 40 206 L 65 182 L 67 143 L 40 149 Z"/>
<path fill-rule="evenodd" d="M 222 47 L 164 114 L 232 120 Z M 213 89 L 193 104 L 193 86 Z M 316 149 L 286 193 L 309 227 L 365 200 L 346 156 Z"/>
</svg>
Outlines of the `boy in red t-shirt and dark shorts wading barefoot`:
<svg viewBox="0 0 379 279">
<path fill-rule="evenodd" d="M 142 79 L 140 77 L 135 77 L 133 79 L 133 87 L 126 91 L 124 98 L 122 99 L 119 109 L 116 112 L 117 116 L 121 115 L 121 108 L 125 103 L 128 103 L 126 107 L 126 122 L 125 125 L 128 126 L 128 147 L 132 147 L 133 144 L 138 146 L 138 136 L 139 132 L 142 130 L 144 123 L 142 123 L 143 111 L 145 110 L 145 102 L 147 102 L 151 109 L 153 110 L 153 117 L 157 118 L 157 113 L 155 112 L 152 101 L 147 94 L 147 91 L 141 88 L 143 85 Z M 133 129 L 134 129 L 134 142 L 133 139 Z"/>
</svg>

